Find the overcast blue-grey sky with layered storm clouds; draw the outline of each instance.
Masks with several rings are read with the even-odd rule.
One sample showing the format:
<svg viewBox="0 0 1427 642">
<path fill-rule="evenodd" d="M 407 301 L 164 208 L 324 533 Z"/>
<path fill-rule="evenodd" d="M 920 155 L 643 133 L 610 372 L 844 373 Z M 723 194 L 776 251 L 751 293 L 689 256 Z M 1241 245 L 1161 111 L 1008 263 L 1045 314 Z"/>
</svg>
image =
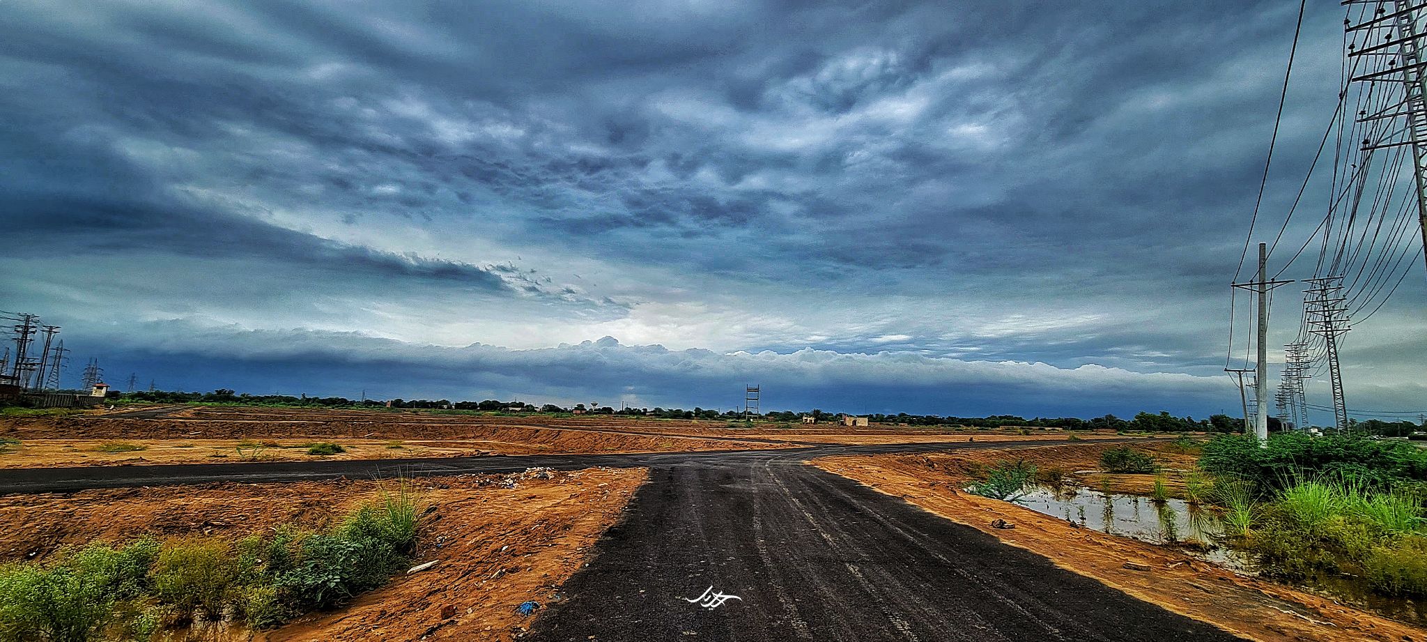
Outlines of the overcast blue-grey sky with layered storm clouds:
<svg viewBox="0 0 1427 642">
<path fill-rule="evenodd" d="M 1310 4 L 1270 221 L 1336 100 L 1343 14 Z M 1237 414 L 1296 19 L 4 0 L 0 310 L 121 388 Z M 1427 407 L 1421 272 L 1344 344 L 1350 407 Z"/>
</svg>

